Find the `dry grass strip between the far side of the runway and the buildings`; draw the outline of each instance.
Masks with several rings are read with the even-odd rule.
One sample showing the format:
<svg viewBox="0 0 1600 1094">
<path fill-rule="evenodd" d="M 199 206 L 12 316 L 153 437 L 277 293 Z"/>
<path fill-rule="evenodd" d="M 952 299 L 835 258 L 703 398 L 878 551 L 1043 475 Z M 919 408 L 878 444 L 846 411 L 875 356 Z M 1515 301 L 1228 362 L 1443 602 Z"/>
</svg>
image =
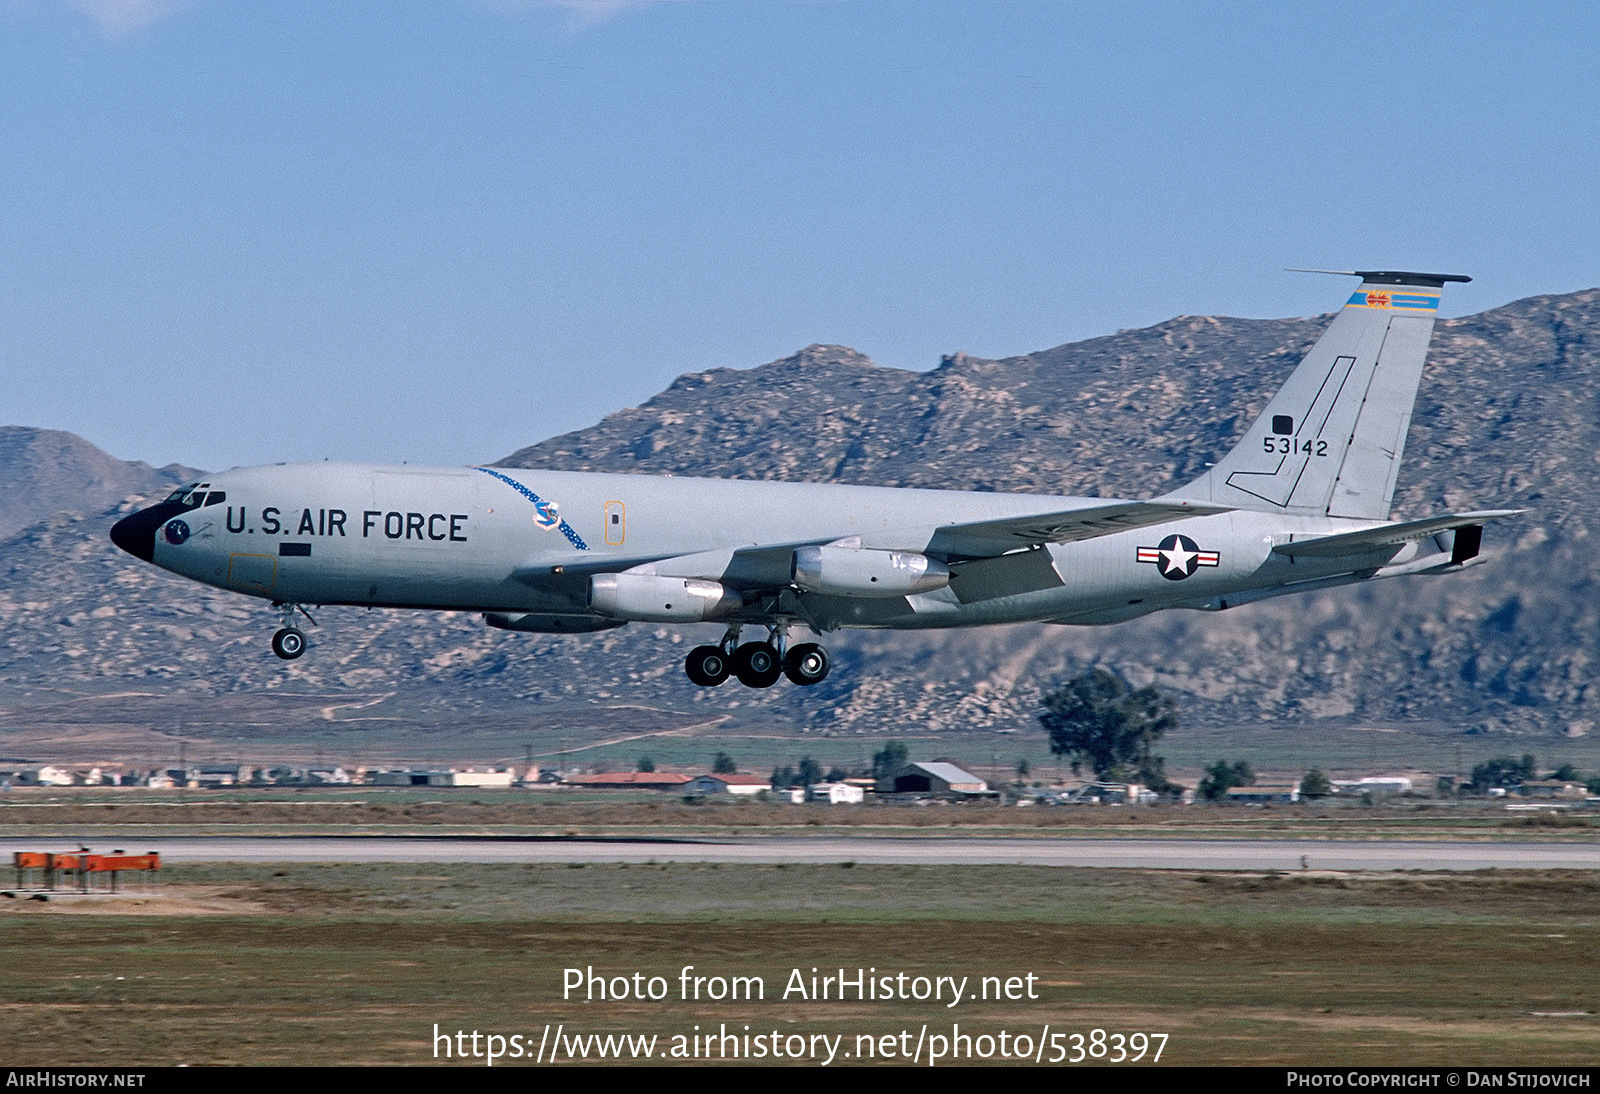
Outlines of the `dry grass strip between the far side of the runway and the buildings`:
<svg viewBox="0 0 1600 1094">
<path fill-rule="evenodd" d="M 1600 844 L 1600 813 L 1512 813 L 1499 801 L 1395 800 L 1368 806 L 1154 806 L 1018 809 L 995 801 L 790 806 L 752 800 L 683 801 L 643 792 L 269 789 L 152 792 L 14 790 L 0 803 L 0 836 L 146 841 L 163 835 L 539 835 L 725 836 L 851 835 L 1114 836 L 1227 840 L 1536 840 Z M 74 846 L 77 846 L 74 843 Z M 35 849 L 46 848 L 43 843 Z M 138 848 L 146 849 L 146 848 Z M 1600 846 L 1595 865 L 1600 868 Z"/>
</svg>

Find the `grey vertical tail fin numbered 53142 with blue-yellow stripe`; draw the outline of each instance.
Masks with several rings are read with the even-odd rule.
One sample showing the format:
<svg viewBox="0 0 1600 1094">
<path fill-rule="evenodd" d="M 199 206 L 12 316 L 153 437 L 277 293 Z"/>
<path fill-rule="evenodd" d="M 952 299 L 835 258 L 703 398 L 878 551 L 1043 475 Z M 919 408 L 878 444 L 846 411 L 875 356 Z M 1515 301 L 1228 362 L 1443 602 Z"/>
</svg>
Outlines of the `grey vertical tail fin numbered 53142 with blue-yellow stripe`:
<svg viewBox="0 0 1600 1094">
<path fill-rule="evenodd" d="M 1362 286 L 1211 470 L 1168 497 L 1384 520 L 1446 281 L 1358 270 Z"/>
</svg>

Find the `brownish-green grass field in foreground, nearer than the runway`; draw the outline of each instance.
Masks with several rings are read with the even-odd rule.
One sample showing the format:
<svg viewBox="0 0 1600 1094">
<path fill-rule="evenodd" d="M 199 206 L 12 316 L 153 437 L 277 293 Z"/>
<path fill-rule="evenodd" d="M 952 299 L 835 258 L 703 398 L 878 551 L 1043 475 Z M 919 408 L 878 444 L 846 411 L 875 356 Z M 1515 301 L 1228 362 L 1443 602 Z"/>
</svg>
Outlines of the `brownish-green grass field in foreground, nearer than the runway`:
<svg viewBox="0 0 1600 1094">
<path fill-rule="evenodd" d="M 874 1059 L 926 1064 L 960 1035 L 990 1062 L 1019 1035 L 1045 1060 L 1142 1043 L 1149 1062 L 1162 1033 L 1160 1062 L 1189 1065 L 1600 1057 L 1600 870 L 219 864 L 117 904 L 3 900 L 0 924 L 0 1051 L 18 1065 L 446 1062 L 435 1025 L 469 1059 L 472 1032 L 507 1038 L 525 1052 L 510 1064 L 546 1024 L 568 1048 L 654 1035 L 658 1060 L 699 1062 L 742 1046 L 814 1065 L 824 1036 L 842 1038 L 835 1065 L 858 1064 L 862 1036 Z M 712 977 L 702 992 L 760 977 L 763 996 L 683 1000 L 685 966 Z M 974 993 L 997 977 L 1019 998 L 819 1000 L 813 968 Z M 666 998 L 563 998 L 566 969 L 638 972 L 646 995 L 661 977 Z M 808 992 L 784 998 L 797 969 Z M 755 1040 L 694 1040 L 723 1027 Z"/>
</svg>

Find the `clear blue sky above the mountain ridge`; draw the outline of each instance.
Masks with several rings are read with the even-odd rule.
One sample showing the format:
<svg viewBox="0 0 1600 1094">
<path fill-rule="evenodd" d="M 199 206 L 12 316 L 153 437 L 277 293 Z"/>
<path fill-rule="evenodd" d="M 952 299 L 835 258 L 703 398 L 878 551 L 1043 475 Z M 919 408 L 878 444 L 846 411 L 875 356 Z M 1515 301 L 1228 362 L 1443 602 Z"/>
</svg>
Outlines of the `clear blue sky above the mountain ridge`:
<svg viewBox="0 0 1600 1094">
<path fill-rule="evenodd" d="M 1600 283 L 1600 5 L 0 0 L 0 424 L 493 461 L 811 342 Z"/>
</svg>

